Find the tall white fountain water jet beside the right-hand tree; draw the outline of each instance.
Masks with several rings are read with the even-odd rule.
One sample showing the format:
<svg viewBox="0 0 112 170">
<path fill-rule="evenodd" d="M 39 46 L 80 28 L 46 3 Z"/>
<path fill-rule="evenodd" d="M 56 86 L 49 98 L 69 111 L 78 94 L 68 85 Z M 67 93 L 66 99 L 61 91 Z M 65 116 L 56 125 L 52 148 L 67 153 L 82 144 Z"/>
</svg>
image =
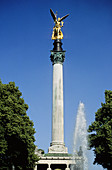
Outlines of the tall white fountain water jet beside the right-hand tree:
<svg viewBox="0 0 112 170">
<path fill-rule="evenodd" d="M 78 151 L 79 150 L 79 151 Z M 76 162 L 75 167 L 71 167 L 71 170 L 88 170 L 88 159 L 87 159 L 87 127 L 85 119 L 85 109 L 82 102 L 79 103 L 76 124 L 73 136 L 73 161 Z M 83 156 L 84 163 L 80 163 L 80 160 L 75 159 L 77 156 Z M 74 164 L 74 163 L 73 163 Z"/>
</svg>

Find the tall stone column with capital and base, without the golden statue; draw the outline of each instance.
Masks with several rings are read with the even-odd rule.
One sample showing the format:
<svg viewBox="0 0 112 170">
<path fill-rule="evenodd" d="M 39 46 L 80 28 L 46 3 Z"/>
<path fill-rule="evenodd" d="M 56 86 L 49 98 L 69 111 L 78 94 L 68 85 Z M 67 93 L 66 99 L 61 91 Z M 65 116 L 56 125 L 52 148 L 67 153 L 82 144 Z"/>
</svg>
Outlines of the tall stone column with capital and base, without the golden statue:
<svg viewBox="0 0 112 170">
<path fill-rule="evenodd" d="M 53 63 L 53 103 L 52 103 L 52 142 L 49 153 L 67 153 L 64 144 L 64 115 L 63 115 L 63 62 L 65 51 L 61 40 L 54 41 L 51 51 Z"/>
</svg>

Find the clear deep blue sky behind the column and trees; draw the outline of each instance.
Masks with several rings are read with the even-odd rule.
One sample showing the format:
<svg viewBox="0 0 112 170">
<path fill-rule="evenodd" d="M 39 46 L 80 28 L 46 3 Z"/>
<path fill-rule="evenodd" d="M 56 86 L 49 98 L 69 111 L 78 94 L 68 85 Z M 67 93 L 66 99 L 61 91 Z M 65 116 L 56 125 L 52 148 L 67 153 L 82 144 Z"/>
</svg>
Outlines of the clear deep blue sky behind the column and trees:
<svg viewBox="0 0 112 170">
<path fill-rule="evenodd" d="M 36 129 L 36 145 L 47 152 L 51 142 L 53 20 L 50 8 L 65 19 L 65 144 L 71 152 L 78 104 L 85 104 L 87 126 L 112 90 L 111 0 L 0 0 L 0 78 L 19 86 Z M 89 151 L 89 169 L 93 152 Z"/>
</svg>

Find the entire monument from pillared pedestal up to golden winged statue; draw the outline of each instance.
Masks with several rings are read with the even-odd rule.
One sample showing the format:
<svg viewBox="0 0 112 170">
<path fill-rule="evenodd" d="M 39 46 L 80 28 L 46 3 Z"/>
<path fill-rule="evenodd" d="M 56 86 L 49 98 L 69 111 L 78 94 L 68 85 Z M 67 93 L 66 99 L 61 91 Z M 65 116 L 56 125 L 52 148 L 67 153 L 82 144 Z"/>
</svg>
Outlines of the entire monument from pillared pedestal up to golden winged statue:
<svg viewBox="0 0 112 170">
<path fill-rule="evenodd" d="M 37 151 L 40 160 L 37 162 L 35 170 L 70 170 L 71 165 L 74 166 L 74 170 L 79 170 L 75 160 L 82 162 L 83 157 L 77 156 L 73 161 L 72 155 L 68 154 L 68 149 L 64 144 L 63 62 L 65 51 L 62 49 L 63 33 L 61 27 L 63 27 L 63 20 L 68 15 L 57 19 L 57 15 L 52 9 L 50 9 L 50 13 L 55 23 L 52 33 L 54 47 L 50 56 L 53 65 L 52 141 L 47 154 L 40 153 L 39 155 Z"/>
</svg>

